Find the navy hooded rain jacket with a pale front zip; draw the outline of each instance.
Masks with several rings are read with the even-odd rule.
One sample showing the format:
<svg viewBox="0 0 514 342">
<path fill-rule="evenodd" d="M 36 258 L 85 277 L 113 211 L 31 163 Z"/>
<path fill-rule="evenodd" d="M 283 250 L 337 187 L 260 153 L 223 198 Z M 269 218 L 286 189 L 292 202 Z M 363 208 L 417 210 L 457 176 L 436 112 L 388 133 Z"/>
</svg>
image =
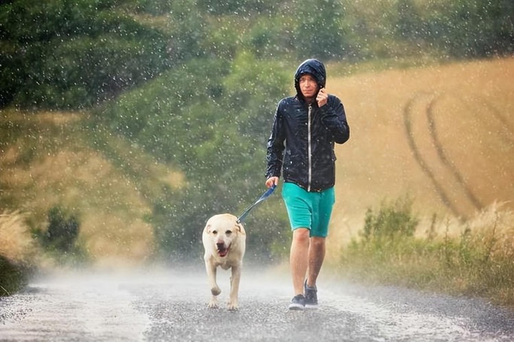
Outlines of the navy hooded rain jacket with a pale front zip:
<svg viewBox="0 0 514 342">
<path fill-rule="evenodd" d="M 266 179 L 280 177 L 308 192 L 320 192 L 334 186 L 334 143 L 343 144 L 350 138 L 341 100 L 328 95 L 321 108 L 314 101 L 309 105 L 299 88 L 299 78 L 313 75 L 319 88 L 326 84 L 325 66 L 318 60 L 306 60 L 295 72 L 296 96 L 283 98 L 273 118 L 273 128 L 267 144 Z"/>
</svg>

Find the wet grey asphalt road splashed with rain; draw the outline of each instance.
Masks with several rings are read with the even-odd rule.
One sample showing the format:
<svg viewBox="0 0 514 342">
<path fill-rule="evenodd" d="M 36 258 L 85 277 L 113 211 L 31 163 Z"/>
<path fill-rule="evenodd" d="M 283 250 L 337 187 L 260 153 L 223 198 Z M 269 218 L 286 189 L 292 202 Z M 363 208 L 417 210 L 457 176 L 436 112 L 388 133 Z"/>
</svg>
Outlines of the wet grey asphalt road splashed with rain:
<svg viewBox="0 0 514 342">
<path fill-rule="evenodd" d="M 229 273 L 218 273 L 224 304 Z M 206 307 L 201 265 L 54 274 L 0 298 L 0 341 L 514 341 L 514 313 L 481 300 L 327 276 L 317 311 L 289 311 L 283 273 L 243 269 L 237 312 Z"/>
</svg>

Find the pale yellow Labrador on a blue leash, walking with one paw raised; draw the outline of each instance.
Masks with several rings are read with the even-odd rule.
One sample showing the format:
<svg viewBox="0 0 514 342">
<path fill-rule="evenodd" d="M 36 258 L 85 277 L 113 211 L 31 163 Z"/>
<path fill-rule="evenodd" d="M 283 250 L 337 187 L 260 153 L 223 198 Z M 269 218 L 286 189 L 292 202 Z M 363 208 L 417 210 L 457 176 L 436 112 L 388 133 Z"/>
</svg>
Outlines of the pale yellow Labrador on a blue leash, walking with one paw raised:
<svg viewBox="0 0 514 342">
<path fill-rule="evenodd" d="M 212 293 L 208 307 L 218 307 L 217 296 L 221 289 L 216 281 L 217 267 L 225 270 L 232 268 L 228 310 L 238 310 L 239 281 L 246 248 L 243 224 L 237 222 L 236 216 L 229 213 L 214 215 L 207 221 L 201 241 L 204 244 L 204 261 Z"/>
</svg>

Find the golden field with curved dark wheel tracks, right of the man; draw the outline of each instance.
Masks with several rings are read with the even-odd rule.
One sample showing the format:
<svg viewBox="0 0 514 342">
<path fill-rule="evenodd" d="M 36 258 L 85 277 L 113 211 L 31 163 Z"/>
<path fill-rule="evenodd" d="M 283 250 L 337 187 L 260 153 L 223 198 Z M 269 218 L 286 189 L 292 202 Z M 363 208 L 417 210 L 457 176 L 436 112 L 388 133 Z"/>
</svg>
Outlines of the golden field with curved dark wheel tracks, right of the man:
<svg viewBox="0 0 514 342">
<path fill-rule="evenodd" d="M 514 58 L 328 75 L 351 128 L 336 147 L 333 248 L 367 208 L 406 195 L 422 220 L 514 209 Z"/>
</svg>

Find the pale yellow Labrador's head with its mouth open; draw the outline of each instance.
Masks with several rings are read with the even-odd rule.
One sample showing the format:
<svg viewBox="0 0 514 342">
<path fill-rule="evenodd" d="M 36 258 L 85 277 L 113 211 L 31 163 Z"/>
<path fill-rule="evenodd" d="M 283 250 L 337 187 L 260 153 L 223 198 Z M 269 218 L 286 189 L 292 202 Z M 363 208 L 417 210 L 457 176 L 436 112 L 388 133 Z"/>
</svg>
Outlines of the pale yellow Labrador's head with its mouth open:
<svg viewBox="0 0 514 342">
<path fill-rule="evenodd" d="M 232 244 L 237 244 L 241 236 L 245 236 L 243 224 L 237 222 L 237 218 L 230 214 L 212 216 L 207 221 L 204 229 L 219 257 L 226 257 Z"/>
</svg>

